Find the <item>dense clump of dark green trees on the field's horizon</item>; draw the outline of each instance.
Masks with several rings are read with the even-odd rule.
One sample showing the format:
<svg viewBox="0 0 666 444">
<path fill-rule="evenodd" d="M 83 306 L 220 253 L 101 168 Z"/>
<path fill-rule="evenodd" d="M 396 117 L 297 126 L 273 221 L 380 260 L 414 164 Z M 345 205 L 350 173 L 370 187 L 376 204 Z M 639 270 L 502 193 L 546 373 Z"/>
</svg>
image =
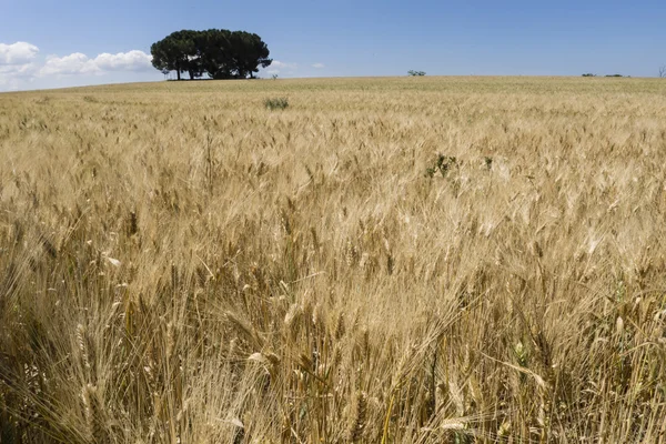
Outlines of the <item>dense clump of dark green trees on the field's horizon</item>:
<svg viewBox="0 0 666 444">
<path fill-rule="evenodd" d="M 186 72 L 190 79 L 204 74 L 212 79 L 253 79 L 259 67 L 266 68 L 269 47 L 255 33 L 209 29 L 182 30 L 151 46 L 152 64 L 158 70 L 175 71 L 178 80 Z"/>
</svg>

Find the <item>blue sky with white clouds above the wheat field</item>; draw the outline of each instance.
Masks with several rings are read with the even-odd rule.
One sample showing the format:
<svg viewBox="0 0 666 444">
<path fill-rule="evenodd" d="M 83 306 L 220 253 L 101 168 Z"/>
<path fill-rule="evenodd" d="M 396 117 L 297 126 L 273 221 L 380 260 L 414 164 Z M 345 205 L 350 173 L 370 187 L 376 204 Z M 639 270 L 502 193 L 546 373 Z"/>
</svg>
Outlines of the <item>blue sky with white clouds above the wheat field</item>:
<svg viewBox="0 0 666 444">
<path fill-rule="evenodd" d="M 180 29 L 256 32 L 275 60 L 263 77 L 655 77 L 666 64 L 664 0 L 3 0 L 0 11 L 0 91 L 161 80 L 150 46 Z"/>
</svg>

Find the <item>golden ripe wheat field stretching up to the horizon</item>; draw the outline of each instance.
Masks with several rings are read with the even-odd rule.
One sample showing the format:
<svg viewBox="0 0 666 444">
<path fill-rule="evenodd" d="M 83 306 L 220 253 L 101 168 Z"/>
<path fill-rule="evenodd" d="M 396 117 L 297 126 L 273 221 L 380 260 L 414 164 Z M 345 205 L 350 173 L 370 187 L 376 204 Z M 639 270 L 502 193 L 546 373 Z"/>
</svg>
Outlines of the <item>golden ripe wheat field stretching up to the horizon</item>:
<svg viewBox="0 0 666 444">
<path fill-rule="evenodd" d="M 659 80 L 1 94 L 0 443 L 665 442 L 665 153 Z"/>
</svg>

